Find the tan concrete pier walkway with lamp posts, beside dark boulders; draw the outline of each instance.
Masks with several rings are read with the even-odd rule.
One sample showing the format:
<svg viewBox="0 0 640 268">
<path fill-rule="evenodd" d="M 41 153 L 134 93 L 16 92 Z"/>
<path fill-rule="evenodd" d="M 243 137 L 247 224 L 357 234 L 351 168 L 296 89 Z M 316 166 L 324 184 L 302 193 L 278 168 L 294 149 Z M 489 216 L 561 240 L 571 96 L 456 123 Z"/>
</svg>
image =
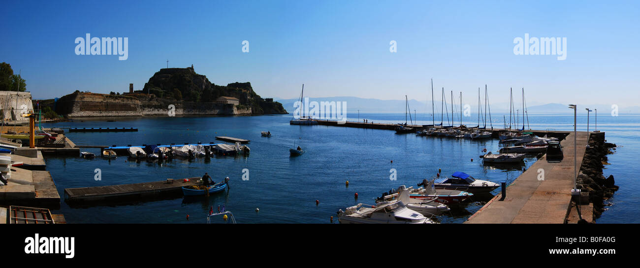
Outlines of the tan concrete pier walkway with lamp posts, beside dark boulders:
<svg viewBox="0 0 640 268">
<path fill-rule="evenodd" d="M 465 223 L 565 223 L 575 181 L 573 149 L 577 146 L 580 169 L 587 142 L 585 131 L 577 133 L 577 145 L 573 143 L 573 132 L 569 133 L 561 142 L 562 162 L 550 163 L 543 156 L 507 187 L 504 201 L 498 194 Z"/>
</svg>

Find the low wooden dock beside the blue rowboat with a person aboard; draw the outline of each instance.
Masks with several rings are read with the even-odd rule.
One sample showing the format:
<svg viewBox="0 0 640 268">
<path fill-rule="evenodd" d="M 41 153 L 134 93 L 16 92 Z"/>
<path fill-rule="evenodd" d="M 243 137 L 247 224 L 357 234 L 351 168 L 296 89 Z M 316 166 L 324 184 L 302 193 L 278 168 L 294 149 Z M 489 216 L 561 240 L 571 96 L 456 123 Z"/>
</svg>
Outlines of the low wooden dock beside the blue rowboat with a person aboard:
<svg viewBox="0 0 640 268">
<path fill-rule="evenodd" d="M 108 185 L 98 187 L 65 188 L 67 203 L 87 205 L 87 203 L 109 203 L 117 201 L 143 201 L 145 197 L 182 196 L 182 187 L 197 185 L 200 178 L 175 179 L 131 183 L 122 185 Z"/>
</svg>

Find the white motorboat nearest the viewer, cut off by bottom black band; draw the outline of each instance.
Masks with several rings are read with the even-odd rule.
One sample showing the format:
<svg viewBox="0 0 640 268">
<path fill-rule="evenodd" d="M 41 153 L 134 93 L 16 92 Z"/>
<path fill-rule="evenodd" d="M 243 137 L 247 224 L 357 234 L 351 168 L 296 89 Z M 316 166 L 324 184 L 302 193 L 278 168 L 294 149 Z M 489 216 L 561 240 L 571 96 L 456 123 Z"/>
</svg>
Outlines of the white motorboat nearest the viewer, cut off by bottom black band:
<svg viewBox="0 0 640 268">
<path fill-rule="evenodd" d="M 428 217 L 407 208 L 401 201 L 385 201 L 376 206 L 359 203 L 338 211 L 340 223 L 434 223 Z"/>
</svg>

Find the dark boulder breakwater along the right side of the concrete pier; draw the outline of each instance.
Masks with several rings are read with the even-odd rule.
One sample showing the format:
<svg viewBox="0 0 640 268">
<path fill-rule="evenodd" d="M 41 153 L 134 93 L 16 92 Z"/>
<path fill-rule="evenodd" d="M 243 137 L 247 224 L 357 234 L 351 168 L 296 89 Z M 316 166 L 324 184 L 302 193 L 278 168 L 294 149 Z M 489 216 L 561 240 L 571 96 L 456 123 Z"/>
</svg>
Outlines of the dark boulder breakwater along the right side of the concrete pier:
<svg viewBox="0 0 640 268">
<path fill-rule="evenodd" d="M 604 200 L 613 196 L 618 190 L 613 175 L 605 178 L 603 175 L 604 164 L 607 163 L 607 155 L 613 153 L 616 144 L 606 142 L 604 133 L 591 133 L 589 147 L 582 158 L 580 172 L 576 179 L 576 187 L 589 192 L 589 201 L 593 203 L 593 214 L 600 217 L 604 212 Z M 568 153 L 568 152 L 564 152 Z"/>
</svg>

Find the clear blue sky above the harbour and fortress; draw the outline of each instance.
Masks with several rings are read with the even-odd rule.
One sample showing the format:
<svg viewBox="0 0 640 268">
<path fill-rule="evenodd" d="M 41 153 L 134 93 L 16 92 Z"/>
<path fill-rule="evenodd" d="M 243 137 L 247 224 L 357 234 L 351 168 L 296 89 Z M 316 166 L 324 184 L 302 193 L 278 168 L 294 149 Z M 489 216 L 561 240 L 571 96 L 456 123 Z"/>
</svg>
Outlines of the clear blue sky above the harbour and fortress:
<svg viewBox="0 0 640 268">
<path fill-rule="evenodd" d="M 4 1 L 0 22 L 0 62 L 35 99 L 141 89 L 169 60 L 262 97 L 305 83 L 312 97 L 426 101 L 433 78 L 505 103 L 509 87 L 532 103 L 640 100 L 639 1 Z M 86 33 L 128 37 L 129 58 L 76 55 Z M 566 60 L 515 55 L 525 33 L 566 37 Z"/>
</svg>

